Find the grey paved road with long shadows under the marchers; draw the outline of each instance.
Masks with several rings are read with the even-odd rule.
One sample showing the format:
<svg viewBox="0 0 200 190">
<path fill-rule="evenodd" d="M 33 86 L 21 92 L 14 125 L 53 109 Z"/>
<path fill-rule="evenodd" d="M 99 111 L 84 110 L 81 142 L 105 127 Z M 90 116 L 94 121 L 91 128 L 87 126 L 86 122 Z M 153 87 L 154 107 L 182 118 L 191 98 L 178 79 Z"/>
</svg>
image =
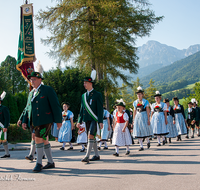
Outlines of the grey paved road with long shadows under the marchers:
<svg viewBox="0 0 200 190">
<path fill-rule="evenodd" d="M 54 142 L 55 143 L 55 142 Z M 59 144 L 58 144 L 59 145 Z M 131 146 L 131 155 L 114 157 L 114 147 L 101 150 L 101 161 L 81 163 L 80 146 L 73 151 L 53 148 L 56 168 L 32 173 L 35 165 L 24 159 L 28 150 L 11 151 L 10 159 L 0 160 L 1 189 L 54 190 L 198 190 L 200 189 L 200 138 L 173 140 L 172 144 L 139 152 Z M 2 155 L 3 152 L 0 152 Z M 46 160 L 43 160 L 45 164 Z M 24 181 L 28 180 L 28 181 Z"/>
</svg>

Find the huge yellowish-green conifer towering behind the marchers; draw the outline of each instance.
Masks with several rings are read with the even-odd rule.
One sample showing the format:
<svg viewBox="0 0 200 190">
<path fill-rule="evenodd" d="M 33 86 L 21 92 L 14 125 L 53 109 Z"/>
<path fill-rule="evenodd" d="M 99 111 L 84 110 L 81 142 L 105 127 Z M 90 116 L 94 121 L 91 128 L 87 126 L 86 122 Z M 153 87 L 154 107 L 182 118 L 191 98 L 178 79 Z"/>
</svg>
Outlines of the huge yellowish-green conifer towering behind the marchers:
<svg viewBox="0 0 200 190">
<path fill-rule="evenodd" d="M 105 81 L 107 107 L 116 79 L 130 84 L 122 70 L 137 72 L 136 38 L 149 35 L 161 19 L 145 0 L 62 0 L 36 16 L 39 28 L 51 33 L 42 40 L 52 45 L 49 55 L 66 62 L 73 58 L 80 68 L 97 70 L 97 80 Z"/>
</svg>

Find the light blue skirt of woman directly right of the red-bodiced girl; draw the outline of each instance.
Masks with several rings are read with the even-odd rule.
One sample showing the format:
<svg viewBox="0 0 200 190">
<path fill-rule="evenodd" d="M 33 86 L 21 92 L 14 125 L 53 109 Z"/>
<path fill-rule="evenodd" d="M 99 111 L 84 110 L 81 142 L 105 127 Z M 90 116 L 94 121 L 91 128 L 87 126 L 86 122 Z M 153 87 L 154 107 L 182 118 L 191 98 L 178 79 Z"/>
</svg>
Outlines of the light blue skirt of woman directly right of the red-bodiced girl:
<svg viewBox="0 0 200 190">
<path fill-rule="evenodd" d="M 137 112 L 134 120 L 133 137 L 144 138 L 153 135 L 151 125 L 148 125 L 147 112 Z"/>
</svg>

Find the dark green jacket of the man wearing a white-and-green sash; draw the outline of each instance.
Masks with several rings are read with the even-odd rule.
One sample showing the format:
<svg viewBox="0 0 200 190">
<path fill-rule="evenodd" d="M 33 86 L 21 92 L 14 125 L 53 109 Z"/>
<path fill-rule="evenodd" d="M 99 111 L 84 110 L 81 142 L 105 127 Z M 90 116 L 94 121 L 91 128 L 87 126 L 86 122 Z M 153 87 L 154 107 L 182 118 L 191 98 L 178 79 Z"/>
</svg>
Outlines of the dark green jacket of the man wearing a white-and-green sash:
<svg viewBox="0 0 200 190">
<path fill-rule="evenodd" d="M 96 90 L 92 90 L 89 96 L 87 95 L 86 100 L 91 110 L 98 117 L 98 123 L 103 123 L 103 98 L 101 93 L 97 92 Z M 83 121 L 94 121 L 94 119 L 87 112 L 83 103 L 83 98 L 81 98 L 81 109 L 78 118 L 78 123 L 82 123 Z"/>
</svg>

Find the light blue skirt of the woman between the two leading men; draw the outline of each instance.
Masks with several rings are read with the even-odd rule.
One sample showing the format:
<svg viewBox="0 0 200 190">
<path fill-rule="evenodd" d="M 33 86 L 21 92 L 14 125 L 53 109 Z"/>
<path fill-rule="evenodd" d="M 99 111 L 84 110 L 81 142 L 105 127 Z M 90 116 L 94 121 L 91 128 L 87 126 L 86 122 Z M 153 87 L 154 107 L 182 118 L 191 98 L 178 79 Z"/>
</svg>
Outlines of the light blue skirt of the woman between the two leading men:
<svg viewBox="0 0 200 190">
<path fill-rule="evenodd" d="M 70 142 L 72 139 L 71 121 L 63 121 L 58 135 L 58 142 Z"/>
</svg>

